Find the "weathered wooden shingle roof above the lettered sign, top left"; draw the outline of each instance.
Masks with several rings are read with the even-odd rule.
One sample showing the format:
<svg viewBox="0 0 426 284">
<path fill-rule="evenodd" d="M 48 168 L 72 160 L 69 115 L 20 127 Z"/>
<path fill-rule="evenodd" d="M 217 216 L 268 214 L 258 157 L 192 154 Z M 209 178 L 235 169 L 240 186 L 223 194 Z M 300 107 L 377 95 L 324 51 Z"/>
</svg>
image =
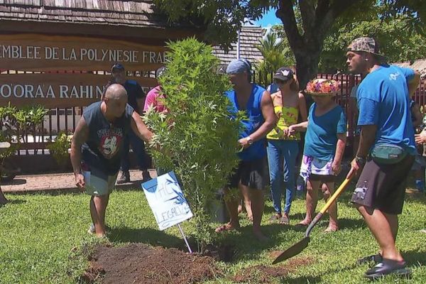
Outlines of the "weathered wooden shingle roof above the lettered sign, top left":
<svg viewBox="0 0 426 284">
<path fill-rule="evenodd" d="M 6 33 L 87 33 L 168 39 L 200 32 L 192 26 L 170 26 L 167 18 L 155 10 L 153 0 L 0 0 L 0 26 L 1 32 Z M 145 33 L 147 30 L 150 32 Z"/>
</svg>

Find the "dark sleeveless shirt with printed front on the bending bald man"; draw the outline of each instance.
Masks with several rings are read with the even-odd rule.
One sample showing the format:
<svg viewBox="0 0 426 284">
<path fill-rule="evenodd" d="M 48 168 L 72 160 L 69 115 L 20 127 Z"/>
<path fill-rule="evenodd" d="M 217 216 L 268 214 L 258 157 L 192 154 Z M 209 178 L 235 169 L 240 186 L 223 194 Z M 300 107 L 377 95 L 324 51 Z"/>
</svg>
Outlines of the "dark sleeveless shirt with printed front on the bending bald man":
<svg viewBox="0 0 426 284">
<path fill-rule="evenodd" d="M 82 160 L 106 175 L 115 175 L 120 168 L 123 138 L 131 131 L 133 108 L 127 104 L 124 114 L 111 123 L 102 114 L 101 104 L 95 102 L 83 111 L 89 137 L 82 145 Z"/>
</svg>

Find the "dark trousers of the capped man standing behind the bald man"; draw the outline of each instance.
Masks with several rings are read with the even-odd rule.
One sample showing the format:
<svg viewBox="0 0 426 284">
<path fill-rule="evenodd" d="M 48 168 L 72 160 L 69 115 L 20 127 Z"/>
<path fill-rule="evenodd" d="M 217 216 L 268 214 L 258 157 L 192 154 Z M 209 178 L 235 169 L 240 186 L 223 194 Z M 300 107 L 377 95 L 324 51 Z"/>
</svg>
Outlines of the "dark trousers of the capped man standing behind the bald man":
<svg viewBox="0 0 426 284">
<path fill-rule="evenodd" d="M 131 129 L 123 139 L 123 155 L 121 156 L 121 170 L 129 171 L 129 146 L 136 155 L 138 166 L 141 170 L 147 170 L 151 165 L 151 158 L 145 151 L 145 143 Z"/>
</svg>

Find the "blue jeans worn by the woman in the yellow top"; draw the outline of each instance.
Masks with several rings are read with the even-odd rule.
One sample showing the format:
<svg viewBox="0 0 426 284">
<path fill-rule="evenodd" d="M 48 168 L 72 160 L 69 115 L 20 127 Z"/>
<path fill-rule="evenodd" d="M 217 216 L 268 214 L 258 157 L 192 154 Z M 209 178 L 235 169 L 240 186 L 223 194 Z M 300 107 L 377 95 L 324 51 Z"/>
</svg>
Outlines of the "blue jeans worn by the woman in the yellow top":
<svg viewBox="0 0 426 284">
<path fill-rule="evenodd" d="M 285 187 L 284 213 L 290 212 L 295 192 L 295 165 L 299 153 L 299 141 L 268 140 L 269 177 L 273 209 L 281 213 L 281 193 Z"/>
</svg>

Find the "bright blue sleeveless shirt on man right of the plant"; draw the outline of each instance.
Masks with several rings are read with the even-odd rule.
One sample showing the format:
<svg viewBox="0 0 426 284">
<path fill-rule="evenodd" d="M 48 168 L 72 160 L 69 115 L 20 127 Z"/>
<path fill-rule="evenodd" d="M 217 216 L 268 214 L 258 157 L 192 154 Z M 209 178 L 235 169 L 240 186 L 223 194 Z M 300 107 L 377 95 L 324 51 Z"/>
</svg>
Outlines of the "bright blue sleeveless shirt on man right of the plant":
<svg viewBox="0 0 426 284">
<path fill-rule="evenodd" d="M 261 100 L 262 94 L 266 91 L 266 89 L 263 89 L 263 87 L 259 86 L 258 84 L 252 84 L 252 86 L 251 95 L 249 101 L 247 102 L 246 109 L 239 106 L 234 89 L 225 92 L 226 97 L 228 97 L 232 104 L 233 109 L 231 112 L 246 112 L 247 119 L 242 121 L 244 127 L 239 133 L 239 138 L 249 136 L 251 133 L 255 132 L 263 124 L 263 122 L 265 122 L 261 109 Z M 265 138 L 261 138 L 260 140 L 253 142 L 251 146 L 238 153 L 238 155 L 241 160 L 257 160 L 263 158 L 266 155 Z"/>
</svg>

